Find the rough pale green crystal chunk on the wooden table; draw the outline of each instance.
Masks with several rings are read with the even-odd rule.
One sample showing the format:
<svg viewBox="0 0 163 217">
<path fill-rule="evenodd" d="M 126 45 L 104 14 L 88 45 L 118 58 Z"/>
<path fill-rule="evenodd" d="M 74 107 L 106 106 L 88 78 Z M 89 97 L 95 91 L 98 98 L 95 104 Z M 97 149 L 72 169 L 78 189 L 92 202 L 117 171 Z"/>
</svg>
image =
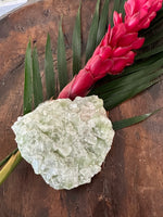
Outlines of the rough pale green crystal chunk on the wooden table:
<svg viewBox="0 0 163 217">
<path fill-rule="evenodd" d="M 40 104 L 12 126 L 22 156 L 54 189 L 90 182 L 101 170 L 114 137 L 98 97 Z"/>
</svg>

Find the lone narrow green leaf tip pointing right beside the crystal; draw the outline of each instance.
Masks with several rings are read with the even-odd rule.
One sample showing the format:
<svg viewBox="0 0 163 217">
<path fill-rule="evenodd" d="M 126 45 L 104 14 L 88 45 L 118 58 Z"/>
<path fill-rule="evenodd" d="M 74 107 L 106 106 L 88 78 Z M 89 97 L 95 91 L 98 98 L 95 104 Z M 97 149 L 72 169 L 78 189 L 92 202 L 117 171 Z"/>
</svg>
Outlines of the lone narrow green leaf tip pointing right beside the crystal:
<svg viewBox="0 0 163 217">
<path fill-rule="evenodd" d="M 145 119 L 147 119 L 148 117 L 150 117 L 151 115 L 155 114 L 156 112 L 159 112 L 161 108 L 155 110 L 154 112 L 148 113 L 148 114 L 143 114 L 140 116 L 136 116 L 136 117 L 130 117 L 127 119 L 122 119 L 118 122 L 114 122 L 113 123 L 113 129 L 114 130 L 120 130 L 123 129 L 125 127 L 130 127 L 131 125 L 138 124 Z"/>
</svg>

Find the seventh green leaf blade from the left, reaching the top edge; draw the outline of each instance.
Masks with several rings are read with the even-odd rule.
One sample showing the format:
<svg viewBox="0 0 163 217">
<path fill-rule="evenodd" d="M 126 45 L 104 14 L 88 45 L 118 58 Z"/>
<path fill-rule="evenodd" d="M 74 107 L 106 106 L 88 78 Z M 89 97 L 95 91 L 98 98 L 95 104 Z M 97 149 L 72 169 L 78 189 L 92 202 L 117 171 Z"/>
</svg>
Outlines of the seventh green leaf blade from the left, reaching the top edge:
<svg viewBox="0 0 163 217">
<path fill-rule="evenodd" d="M 100 41 L 103 38 L 105 30 L 106 30 L 105 28 L 108 26 L 109 2 L 110 2 L 110 0 L 104 1 L 102 12 L 101 12 L 101 15 L 100 15 L 98 34 L 97 34 L 97 46 L 100 43 Z"/>
</svg>

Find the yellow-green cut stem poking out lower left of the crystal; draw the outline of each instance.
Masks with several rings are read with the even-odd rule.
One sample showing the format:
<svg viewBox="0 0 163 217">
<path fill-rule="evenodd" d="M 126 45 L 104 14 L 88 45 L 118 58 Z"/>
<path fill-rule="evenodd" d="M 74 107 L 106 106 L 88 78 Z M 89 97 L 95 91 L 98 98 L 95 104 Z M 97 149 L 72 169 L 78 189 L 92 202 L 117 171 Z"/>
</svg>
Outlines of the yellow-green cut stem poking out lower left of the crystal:
<svg viewBox="0 0 163 217">
<path fill-rule="evenodd" d="M 13 154 L 4 167 L 0 170 L 0 184 L 8 178 L 8 176 L 13 171 L 17 164 L 22 161 L 20 151 Z"/>
</svg>

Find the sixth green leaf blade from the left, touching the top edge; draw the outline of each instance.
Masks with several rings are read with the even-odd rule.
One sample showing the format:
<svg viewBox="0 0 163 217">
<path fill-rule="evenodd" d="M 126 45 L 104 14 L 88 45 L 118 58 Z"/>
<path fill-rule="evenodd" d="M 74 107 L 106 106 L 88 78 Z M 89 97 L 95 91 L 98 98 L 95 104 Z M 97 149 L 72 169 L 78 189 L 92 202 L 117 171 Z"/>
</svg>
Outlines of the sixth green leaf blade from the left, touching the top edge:
<svg viewBox="0 0 163 217">
<path fill-rule="evenodd" d="M 86 46 L 86 63 L 91 58 L 97 44 L 99 7 L 100 7 L 100 0 L 97 1 L 96 11 L 93 14 L 93 18 L 92 18 L 89 35 L 88 35 L 88 40 L 87 40 L 87 46 Z"/>
</svg>

